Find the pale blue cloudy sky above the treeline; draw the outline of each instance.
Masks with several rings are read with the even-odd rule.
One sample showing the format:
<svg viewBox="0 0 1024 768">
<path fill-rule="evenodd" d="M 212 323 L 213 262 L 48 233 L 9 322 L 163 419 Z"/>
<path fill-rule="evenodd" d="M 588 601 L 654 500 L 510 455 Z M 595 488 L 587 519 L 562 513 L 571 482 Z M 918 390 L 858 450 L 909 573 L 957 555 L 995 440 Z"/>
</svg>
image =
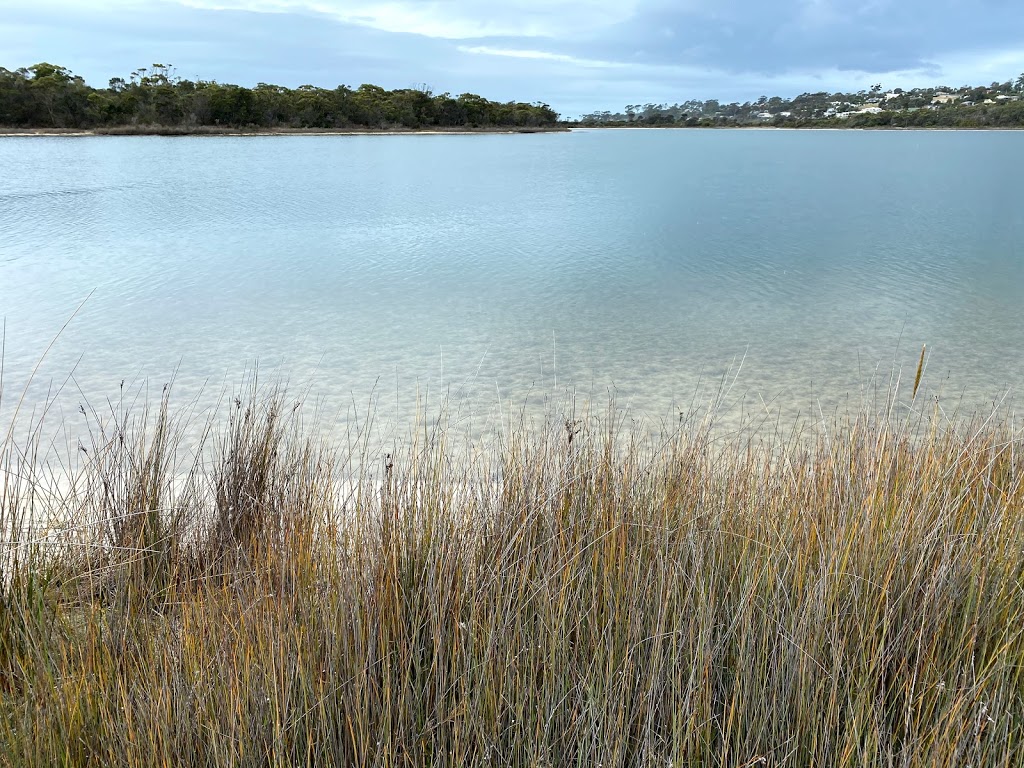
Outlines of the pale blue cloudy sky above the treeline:
<svg viewBox="0 0 1024 768">
<path fill-rule="evenodd" d="M 1024 72 L 1022 0 L 0 0 L 0 67 L 93 85 L 376 83 L 564 115 L 688 98 L 988 84 Z"/>
</svg>

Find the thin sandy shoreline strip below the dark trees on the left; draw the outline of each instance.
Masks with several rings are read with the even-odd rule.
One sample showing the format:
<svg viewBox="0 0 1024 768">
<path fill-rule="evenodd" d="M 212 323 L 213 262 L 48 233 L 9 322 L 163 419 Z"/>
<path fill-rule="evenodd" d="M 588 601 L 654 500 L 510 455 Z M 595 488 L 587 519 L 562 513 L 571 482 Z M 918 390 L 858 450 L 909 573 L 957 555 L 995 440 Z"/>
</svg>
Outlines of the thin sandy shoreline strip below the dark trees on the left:
<svg viewBox="0 0 1024 768">
<path fill-rule="evenodd" d="M 3 136 L 476 136 L 484 134 L 566 133 L 563 125 L 481 128 L 222 128 L 218 126 L 128 125 L 104 128 L 2 128 Z"/>
</svg>

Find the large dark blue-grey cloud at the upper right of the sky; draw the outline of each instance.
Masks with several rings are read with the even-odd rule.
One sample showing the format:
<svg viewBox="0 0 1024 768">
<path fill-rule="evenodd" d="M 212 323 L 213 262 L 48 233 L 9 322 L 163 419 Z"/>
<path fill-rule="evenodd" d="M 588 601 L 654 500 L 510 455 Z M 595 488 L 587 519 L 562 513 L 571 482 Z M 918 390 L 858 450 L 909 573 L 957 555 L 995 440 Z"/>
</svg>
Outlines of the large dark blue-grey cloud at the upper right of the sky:
<svg viewBox="0 0 1024 768">
<path fill-rule="evenodd" d="M 935 72 L 969 51 L 1020 47 L 1019 27 L 1009 0 L 644 0 L 585 50 L 559 52 L 767 76 Z"/>
</svg>

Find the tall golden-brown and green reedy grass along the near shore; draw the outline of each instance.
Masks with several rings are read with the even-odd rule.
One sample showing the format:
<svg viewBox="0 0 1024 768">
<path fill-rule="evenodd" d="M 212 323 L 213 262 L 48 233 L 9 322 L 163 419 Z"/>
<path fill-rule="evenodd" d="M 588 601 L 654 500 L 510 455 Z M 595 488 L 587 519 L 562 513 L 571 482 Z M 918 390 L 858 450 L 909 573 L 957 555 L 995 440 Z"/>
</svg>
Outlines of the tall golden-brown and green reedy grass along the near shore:
<svg viewBox="0 0 1024 768">
<path fill-rule="evenodd" d="M 1019 764 L 1012 421 L 385 456 L 228 410 L 97 415 L 63 484 L 3 444 L 0 764 Z"/>
</svg>

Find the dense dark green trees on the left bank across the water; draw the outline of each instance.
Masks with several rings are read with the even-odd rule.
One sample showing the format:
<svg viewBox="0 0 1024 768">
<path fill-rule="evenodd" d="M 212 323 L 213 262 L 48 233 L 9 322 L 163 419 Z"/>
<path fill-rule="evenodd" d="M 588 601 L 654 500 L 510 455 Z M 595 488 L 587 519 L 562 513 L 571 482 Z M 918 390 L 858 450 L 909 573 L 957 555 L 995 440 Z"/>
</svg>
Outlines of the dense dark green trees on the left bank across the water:
<svg viewBox="0 0 1024 768">
<path fill-rule="evenodd" d="M 464 93 L 434 95 L 422 88 L 388 91 L 376 85 L 294 90 L 193 82 L 169 66 L 140 69 L 93 88 L 62 67 L 0 68 L 0 126 L 23 129 L 133 129 L 209 132 L 210 129 L 539 129 L 558 115 L 542 103 L 498 103 Z M 207 131 L 202 129 L 206 128 Z M 163 129 L 163 130 L 161 130 Z"/>
</svg>

